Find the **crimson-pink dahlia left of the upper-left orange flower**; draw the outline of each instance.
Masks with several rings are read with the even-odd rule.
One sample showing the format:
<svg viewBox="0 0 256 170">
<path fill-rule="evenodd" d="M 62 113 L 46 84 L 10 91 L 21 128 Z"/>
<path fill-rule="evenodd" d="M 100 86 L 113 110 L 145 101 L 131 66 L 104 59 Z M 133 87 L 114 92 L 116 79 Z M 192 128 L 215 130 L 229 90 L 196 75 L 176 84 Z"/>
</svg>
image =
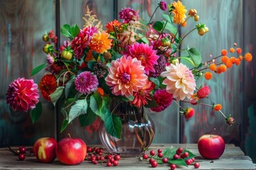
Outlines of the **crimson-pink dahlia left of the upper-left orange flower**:
<svg viewBox="0 0 256 170">
<path fill-rule="evenodd" d="M 97 28 L 92 26 L 83 28 L 83 30 L 80 30 L 80 33 L 78 34 L 78 36 L 76 36 L 70 42 L 70 46 L 71 46 L 71 49 L 74 51 L 75 58 L 80 59 L 82 57 L 83 48 L 85 48 L 89 44 L 93 33 L 96 33 L 96 32 L 97 32 Z"/>
</svg>

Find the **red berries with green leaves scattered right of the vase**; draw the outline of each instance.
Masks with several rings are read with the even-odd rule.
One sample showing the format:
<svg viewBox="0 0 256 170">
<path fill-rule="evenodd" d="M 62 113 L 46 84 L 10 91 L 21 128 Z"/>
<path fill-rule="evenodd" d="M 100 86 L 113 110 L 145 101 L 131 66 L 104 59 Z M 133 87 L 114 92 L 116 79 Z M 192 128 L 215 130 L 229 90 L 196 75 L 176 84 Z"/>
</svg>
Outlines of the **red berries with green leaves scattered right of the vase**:
<svg viewBox="0 0 256 170">
<path fill-rule="evenodd" d="M 196 169 L 199 168 L 200 164 L 195 162 L 196 155 L 183 150 L 182 147 L 167 148 L 164 151 L 158 149 L 157 152 L 151 150 L 149 154 L 142 154 L 141 159 L 144 159 L 151 164 L 152 167 L 156 167 L 159 164 L 169 164 L 171 170 L 176 169 L 176 165 L 188 166 L 193 165 Z"/>
</svg>

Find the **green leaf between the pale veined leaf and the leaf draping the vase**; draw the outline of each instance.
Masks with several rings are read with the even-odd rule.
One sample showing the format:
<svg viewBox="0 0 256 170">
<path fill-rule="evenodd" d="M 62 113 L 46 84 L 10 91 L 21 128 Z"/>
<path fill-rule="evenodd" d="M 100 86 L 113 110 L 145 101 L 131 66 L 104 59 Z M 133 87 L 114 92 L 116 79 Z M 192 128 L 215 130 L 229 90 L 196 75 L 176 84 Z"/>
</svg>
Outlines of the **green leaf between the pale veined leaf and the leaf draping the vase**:
<svg viewBox="0 0 256 170">
<path fill-rule="evenodd" d="M 90 108 L 93 113 L 99 115 L 102 120 L 105 120 L 105 115 L 102 113 L 102 98 L 100 94 L 94 93 L 90 96 Z"/>
</svg>

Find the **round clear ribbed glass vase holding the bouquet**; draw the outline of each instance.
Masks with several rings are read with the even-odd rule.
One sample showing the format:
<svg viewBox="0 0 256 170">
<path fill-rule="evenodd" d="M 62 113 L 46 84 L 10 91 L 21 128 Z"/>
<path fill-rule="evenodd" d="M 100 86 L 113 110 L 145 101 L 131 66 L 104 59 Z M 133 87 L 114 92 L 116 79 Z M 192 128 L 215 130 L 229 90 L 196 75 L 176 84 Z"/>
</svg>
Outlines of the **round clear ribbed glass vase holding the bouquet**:
<svg viewBox="0 0 256 170">
<path fill-rule="evenodd" d="M 146 147 L 151 145 L 155 128 L 144 107 L 137 108 L 126 102 L 112 102 L 110 111 L 113 111 L 122 120 L 122 136 L 120 139 L 109 135 L 104 123 L 100 125 L 100 140 L 111 154 L 133 157 L 142 153 Z"/>
</svg>

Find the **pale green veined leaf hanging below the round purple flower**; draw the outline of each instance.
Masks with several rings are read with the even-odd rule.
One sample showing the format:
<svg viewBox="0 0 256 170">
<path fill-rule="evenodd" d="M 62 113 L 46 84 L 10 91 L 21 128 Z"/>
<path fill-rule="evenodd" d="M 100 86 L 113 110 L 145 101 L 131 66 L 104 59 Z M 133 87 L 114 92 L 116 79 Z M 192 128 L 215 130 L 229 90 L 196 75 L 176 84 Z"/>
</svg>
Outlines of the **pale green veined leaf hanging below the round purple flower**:
<svg viewBox="0 0 256 170">
<path fill-rule="evenodd" d="M 72 122 L 79 115 L 85 114 L 87 112 L 87 100 L 75 101 L 75 104 L 71 106 L 70 113 L 68 114 L 68 123 Z"/>
</svg>

